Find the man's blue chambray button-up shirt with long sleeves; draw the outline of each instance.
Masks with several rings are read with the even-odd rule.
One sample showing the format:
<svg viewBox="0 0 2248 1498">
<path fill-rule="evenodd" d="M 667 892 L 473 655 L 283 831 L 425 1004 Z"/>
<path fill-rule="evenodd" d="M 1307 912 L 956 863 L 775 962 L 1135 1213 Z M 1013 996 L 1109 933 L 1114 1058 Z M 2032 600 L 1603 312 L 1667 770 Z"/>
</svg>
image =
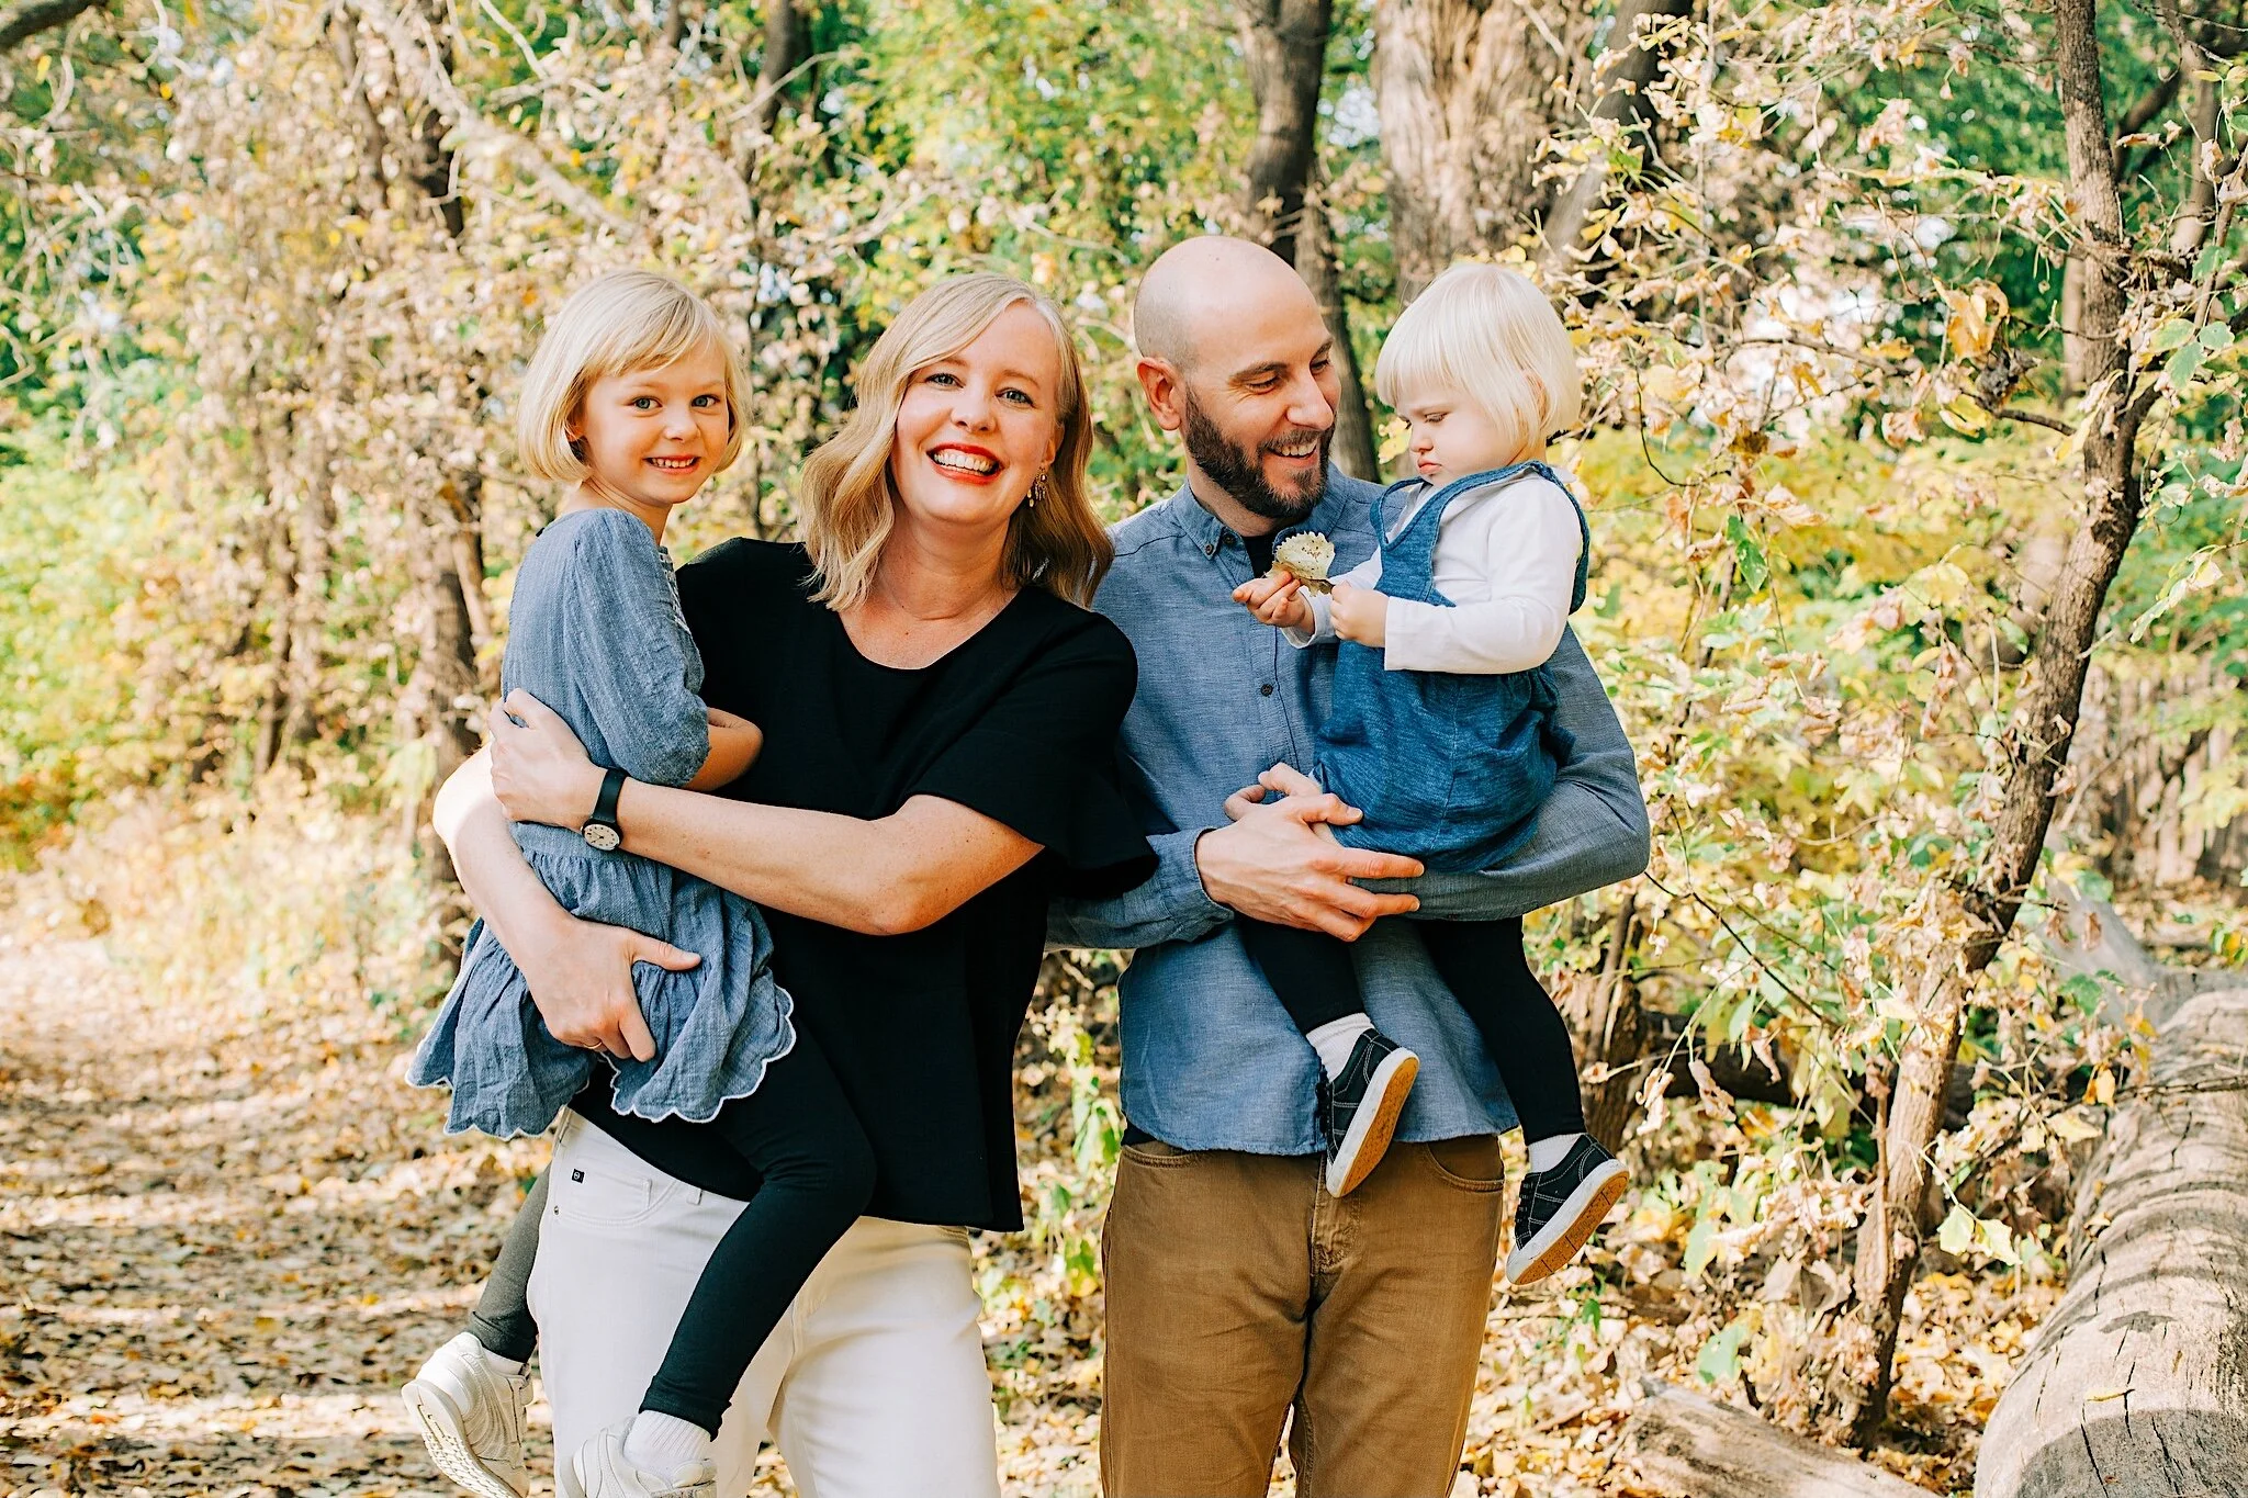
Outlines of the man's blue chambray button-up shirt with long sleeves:
<svg viewBox="0 0 2248 1498">
<path fill-rule="evenodd" d="M 1374 550 L 1371 483 L 1329 472 L 1304 521 L 1335 541 L 1335 573 Z M 1124 972 L 1124 1116 L 1180 1150 L 1315 1154 L 1320 1060 L 1241 948 L 1232 912 L 1203 889 L 1194 842 L 1225 824 L 1225 797 L 1275 761 L 1313 766 L 1331 649 L 1297 649 L 1230 593 L 1248 582 L 1241 537 L 1180 490 L 1115 528 L 1117 561 L 1095 606 L 1140 654 L 1124 719 L 1126 793 L 1160 858 L 1111 901 L 1057 901 L 1048 941 L 1133 948 Z M 1517 916 L 1630 878 L 1648 862 L 1632 746 L 1574 633 L 1551 660 L 1558 723 L 1576 750 L 1531 840 L 1502 869 L 1432 874 L 1421 914 Z M 1398 1139 L 1459 1139 L 1515 1125 L 1499 1074 L 1452 1002 L 1412 919 L 1378 921 L 1353 948 L 1367 1013 L 1421 1053 Z"/>
</svg>

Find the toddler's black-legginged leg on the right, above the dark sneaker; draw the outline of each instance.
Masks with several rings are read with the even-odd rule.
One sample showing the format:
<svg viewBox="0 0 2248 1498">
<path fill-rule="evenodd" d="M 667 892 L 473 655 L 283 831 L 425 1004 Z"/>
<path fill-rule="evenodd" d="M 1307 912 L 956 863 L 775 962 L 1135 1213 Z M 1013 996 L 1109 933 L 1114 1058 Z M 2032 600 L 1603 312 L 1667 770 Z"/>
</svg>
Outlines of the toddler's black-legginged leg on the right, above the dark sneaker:
<svg viewBox="0 0 2248 1498">
<path fill-rule="evenodd" d="M 1421 921 L 1418 930 L 1443 986 L 1484 1033 L 1484 1049 L 1522 1118 L 1522 1139 L 1583 1134 L 1585 1100 L 1569 1026 L 1522 952 L 1522 916 Z"/>
</svg>

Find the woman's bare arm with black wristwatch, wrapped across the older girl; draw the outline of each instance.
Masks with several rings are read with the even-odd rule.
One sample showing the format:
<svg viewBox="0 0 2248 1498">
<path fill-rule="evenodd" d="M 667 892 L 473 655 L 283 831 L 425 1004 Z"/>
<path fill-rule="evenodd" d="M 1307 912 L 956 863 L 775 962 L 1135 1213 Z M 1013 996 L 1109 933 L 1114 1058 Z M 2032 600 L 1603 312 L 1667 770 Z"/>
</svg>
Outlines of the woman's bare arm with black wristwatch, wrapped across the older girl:
<svg viewBox="0 0 2248 1498">
<path fill-rule="evenodd" d="M 582 826 L 600 777 L 569 723 L 528 692 L 492 714 L 492 788 L 508 815 Z M 632 853 L 870 937 L 935 925 L 1039 856 L 1005 822 L 935 795 L 868 822 L 627 782 L 616 820 Z"/>
</svg>

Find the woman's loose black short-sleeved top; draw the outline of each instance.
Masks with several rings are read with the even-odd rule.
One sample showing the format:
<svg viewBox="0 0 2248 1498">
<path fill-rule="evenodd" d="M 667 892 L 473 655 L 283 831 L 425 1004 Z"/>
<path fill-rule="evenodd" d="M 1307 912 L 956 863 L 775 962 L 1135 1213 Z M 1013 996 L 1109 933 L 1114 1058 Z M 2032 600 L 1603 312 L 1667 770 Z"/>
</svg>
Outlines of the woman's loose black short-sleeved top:
<svg viewBox="0 0 2248 1498">
<path fill-rule="evenodd" d="M 940 795 L 1045 851 L 904 937 L 767 910 L 773 972 L 874 1143 L 868 1213 L 1018 1228 L 1014 1040 L 1048 896 L 1122 892 L 1155 867 L 1115 786 L 1137 683 L 1131 642 L 1102 615 L 1023 588 L 951 654 L 901 672 L 861 656 L 812 588 L 805 548 L 773 541 L 726 541 L 679 568 L 704 698 L 764 730 L 758 764 L 724 795 L 847 817 Z M 573 1107 L 692 1186 L 755 1188 L 740 1157 L 692 1123 L 616 1114 L 605 1085 Z"/>
</svg>

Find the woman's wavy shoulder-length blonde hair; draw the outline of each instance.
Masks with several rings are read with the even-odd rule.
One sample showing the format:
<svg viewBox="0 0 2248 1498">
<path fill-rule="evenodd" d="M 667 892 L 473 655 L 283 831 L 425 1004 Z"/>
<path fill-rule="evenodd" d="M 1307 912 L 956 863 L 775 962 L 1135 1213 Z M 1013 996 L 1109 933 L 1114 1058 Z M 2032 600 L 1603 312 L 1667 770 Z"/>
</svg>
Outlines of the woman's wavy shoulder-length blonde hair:
<svg viewBox="0 0 2248 1498">
<path fill-rule="evenodd" d="M 818 570 L 814 597 L 834 611 L 865 602 L 874 586 L 881 546 L 897 523 L 897 407 L 919 371 L 951 359 L 982 337 L 1007 308 L 1025 305 L 1054 335 L 1061 386 L 1052 393 L 1061 445 L 1045 474 L 1045 494 L 1007 519 L 1003 568 L 1014 588 L 1045 588 L 1072 604 L 1093 602 L 1093 588 L 1115 559 L 1108 532 L 1086 496 L 1093 456 L 1093 413 L 1077 344 L 1052 301 L 1012 276 L 978 272 L 928 287 L 897 314 L 859 366 L 859 407 L 843 431 L 809 458 L 796 496 L 798 528 Z"/>
</svg>

